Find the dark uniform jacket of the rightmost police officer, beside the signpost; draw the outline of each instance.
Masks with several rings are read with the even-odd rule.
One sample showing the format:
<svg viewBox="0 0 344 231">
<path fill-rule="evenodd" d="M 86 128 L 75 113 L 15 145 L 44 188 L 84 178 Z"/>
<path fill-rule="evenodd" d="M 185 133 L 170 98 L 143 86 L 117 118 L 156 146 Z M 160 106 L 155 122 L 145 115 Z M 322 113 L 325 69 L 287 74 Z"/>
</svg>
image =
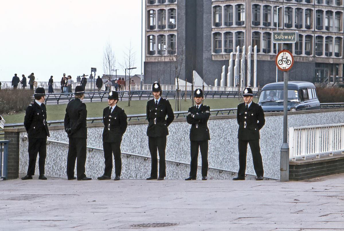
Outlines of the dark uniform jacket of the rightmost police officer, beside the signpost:
<svg viewBox="0 0 344 231">
<path fill-rule="evenodd" d="M 252 102 L 246 110 L 246 104 L 241 103 L 237 108 L 237 121 L 239 124 L 238 139 L 259 139 L 259 130 L 265 124 L 264 111 L 260 105 Z"/>
</svg>

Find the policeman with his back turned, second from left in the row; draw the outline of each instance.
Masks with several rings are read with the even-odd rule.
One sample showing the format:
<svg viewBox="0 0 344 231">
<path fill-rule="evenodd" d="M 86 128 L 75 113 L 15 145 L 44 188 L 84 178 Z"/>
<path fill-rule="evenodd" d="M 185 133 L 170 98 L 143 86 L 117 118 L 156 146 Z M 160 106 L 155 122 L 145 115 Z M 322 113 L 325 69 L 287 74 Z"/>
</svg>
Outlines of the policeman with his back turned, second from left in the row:
<svg viewBox="0 0 344 231">
<path fill-rule="evenodd" d="M 69 138 L 69 148 L 67 156 L 67 177 L 68 180 L 74 180 L 74 167 L 76 160 L 76 172 L 78 180 L 92 180 L 86 177 L 86 139 L 87 126 L 86 104 L 82 102 L 84 98 L 84 89 L 82 86 L 75 87 L 75 99 L 70 101 L 66 108 L 64 119 L 65 131 Z"/>
</svg>

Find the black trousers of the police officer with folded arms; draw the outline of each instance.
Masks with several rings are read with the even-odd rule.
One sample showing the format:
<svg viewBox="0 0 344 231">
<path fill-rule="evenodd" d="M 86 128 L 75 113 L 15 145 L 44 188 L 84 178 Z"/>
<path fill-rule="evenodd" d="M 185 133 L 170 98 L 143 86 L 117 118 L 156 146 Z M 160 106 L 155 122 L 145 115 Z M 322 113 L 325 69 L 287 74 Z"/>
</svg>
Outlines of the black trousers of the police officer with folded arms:
<svg viewBox="0 0 344 231">
<path fill-rule="evenodd" d="M 198 162 L 198 147 L 201 149 L 202 156 L 202 176 L 206 177 L 208 174 L 208 140 L 193 141 L 190 140 L 191 162 L 190 162 L 190 177 L 197 176 L 197 162 Z"/>
</svg>

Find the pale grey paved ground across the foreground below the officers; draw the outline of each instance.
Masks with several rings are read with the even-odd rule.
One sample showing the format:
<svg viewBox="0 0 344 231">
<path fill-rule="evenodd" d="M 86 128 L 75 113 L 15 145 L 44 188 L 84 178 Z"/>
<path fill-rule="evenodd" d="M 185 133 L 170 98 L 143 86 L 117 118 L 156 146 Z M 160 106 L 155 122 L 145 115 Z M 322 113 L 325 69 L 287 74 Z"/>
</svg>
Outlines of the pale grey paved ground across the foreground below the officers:
<svg viewBox="0 0 344 231">
<path fill-rule="evenodd" d="M 343 191 L 344 174 L 299 182 L 5 180 L 0 230 L 344 230 Z"/>
</svg>

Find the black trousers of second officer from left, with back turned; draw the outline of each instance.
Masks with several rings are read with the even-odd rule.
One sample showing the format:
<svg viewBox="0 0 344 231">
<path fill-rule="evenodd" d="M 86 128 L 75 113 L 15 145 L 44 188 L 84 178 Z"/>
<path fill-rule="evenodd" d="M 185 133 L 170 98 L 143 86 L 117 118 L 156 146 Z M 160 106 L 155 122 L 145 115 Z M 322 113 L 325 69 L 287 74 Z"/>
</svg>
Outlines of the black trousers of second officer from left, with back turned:
<svg viewBox="0 0 344 231">
<path fill-rule="evenodd" d="M 78 179 L 86 177 L 86 139 L 85 138 L 69 138 L 69 148 L 67 156 L 67 177 L 74 177 L 76 159 L 76 176 Z"/>
</svg>

